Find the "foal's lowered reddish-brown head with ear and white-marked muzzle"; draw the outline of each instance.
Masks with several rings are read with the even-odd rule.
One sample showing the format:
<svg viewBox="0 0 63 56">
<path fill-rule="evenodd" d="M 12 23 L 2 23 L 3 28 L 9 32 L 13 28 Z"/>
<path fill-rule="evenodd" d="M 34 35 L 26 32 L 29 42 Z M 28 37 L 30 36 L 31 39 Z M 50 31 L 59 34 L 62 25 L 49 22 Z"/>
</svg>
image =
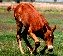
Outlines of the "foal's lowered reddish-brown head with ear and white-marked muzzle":
<svg viewBox="0 0 63 56">
<path fill-rule="evenodd" d="M 44 34 L 44 40 L 50 52 L 53 50 L 53 39 L 54 39 L 53 32 L 55 29 L 56 29 L 56 26 L 54 26 L 53 28 L 46 27 L 46 32 Z"/>
</svg>

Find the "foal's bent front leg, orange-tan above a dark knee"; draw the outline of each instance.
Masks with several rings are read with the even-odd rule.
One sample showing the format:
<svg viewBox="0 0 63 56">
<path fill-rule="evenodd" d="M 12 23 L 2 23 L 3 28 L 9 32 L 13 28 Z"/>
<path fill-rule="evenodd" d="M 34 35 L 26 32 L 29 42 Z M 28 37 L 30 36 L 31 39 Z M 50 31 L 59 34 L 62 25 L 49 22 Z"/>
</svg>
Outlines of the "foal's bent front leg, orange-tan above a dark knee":
<svg viewBox="0 0 63 56">
<path fill-rule="evenodd" d="M 36 53 L 37 48 L 40 46 L 40 41 L 37 38 L 37 36 L 34 33 L 32 33 L 31 27 L 29 27 L 28 33 L 32 37 L 32 39 L 35 41 L 35 47 L 34 47 L 33 53 Z"/>
</svg>

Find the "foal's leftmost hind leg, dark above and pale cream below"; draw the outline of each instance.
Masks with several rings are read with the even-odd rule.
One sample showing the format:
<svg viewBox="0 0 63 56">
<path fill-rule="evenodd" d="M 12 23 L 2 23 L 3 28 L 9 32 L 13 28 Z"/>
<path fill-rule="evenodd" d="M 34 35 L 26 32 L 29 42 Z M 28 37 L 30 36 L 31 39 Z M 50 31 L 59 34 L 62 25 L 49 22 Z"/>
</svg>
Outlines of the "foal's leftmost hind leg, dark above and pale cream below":
<svg viewBox="0 0 63 56">
<path fill-rule="evenodd" d="M 21 35 L 21 30 L 22 30 L 22 24 L 19 24 L 17 22 L 17 35 L 16 35 L 16 38 L 17 38 L 19 49 L 20 49 L 21 53 L 24 54 L 23 49 L 22 49 L 22 41 L 21 41 L 22 35 Z"/>
</svg>

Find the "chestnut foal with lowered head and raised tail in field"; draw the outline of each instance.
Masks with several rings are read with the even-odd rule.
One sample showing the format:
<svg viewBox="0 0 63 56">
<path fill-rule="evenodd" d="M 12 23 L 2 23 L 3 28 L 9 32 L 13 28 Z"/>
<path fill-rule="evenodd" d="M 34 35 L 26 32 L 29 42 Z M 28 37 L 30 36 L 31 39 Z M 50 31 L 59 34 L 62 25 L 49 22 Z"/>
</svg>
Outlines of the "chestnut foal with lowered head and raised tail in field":
<svg viewBox="0 0 63 56">
<path fill-rule="evenodd" d="M 21 3 L 16 6 L 9 6 L 7 10 L 14 11 L 14 17 L 17 25 L 17 42 L 22 54 L 24 54 L 22 49 L 21 38 L 25 40 L 31 53 L 36 53 L 37 48 L 40 46 L 40 41 L 38 36 L 40 36 L 46 43 L 45 49 L 49 51 L 53 50 L 53 32 L 56 26 L 51 28 L 43 15 L 41 15 L 32 4 Z M 29 35 L 35 41 L 35 47 L 32 48 L 29 41 L 27 40 L 27 35 Z"/>
</svg>

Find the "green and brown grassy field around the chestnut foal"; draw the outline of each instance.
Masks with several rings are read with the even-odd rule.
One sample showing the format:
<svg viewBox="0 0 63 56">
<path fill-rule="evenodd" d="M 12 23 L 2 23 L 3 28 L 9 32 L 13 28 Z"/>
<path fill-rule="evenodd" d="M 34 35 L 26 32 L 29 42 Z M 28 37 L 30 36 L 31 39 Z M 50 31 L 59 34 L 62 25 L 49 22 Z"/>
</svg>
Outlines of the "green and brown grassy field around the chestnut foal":
<svg viewBox="0 0 63 56">
<path fill-rule="evenodd" d="M 63 56 L 63 11 L 42 11 L 39 8 L 37 10 L 47 18 L 50 26 L 56 25 L 57 29 L 54 32 L 53 54 L 48 54 L 47 52 L 44 55 L 40 54 L 40 50 L 42 50 L 45 45 L 44 41 L 40 39 L 42 42 L 36 56 Z M 31 45 L 34 46 L 33 40 L 31 38 L 28 39 Z M 18 49 L 16 41 L 16 23 L 13 12 L 7 12 L 5 7 L 0 7 L 0 56 L 35 56 L 33 54 L 30 55 L 24 41 L 22 46 L 25 49 L 24 55 L 22 55 Z"/>
</svg>

